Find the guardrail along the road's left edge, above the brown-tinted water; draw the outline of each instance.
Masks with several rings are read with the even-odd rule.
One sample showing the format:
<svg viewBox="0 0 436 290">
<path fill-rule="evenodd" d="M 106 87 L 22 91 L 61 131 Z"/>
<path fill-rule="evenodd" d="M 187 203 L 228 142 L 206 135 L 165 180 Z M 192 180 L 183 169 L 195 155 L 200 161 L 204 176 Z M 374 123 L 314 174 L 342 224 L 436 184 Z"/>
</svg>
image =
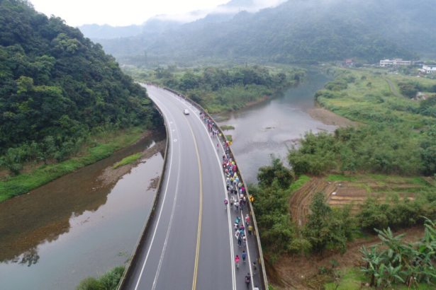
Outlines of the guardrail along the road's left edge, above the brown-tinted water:
<svg viewBox="0 0 436 290">
<path fill-rule="evenodd" d="M 162 118 L 164 118 L 164 120 L 165 120 L 164 114 L 162 113 L 160 108 L 157 107 L 157 105 L 155 107 L 159 111 L 160 115 L 162 115 Z M 165 132 L 167 134 L 167 144 L 165 146 L 165 153 L 164 153 L 164 166 L 162 167 L 162 174 L 160 175 L 159 182 L 158 182 L 158 185 L 156 187 L 156 195 L 155 195 L 155 199 L 153 200 L 153 207 L 152 207 L 152 210 L 150 211 L 150 214 L 148 215 L 147 222 L 145 223 L 144 227 L 142 228 L 141 235 L 139 236 L 139 238 L 138 238 L 138 240 L 136 242 L 135 251 L 133 252 L 133 256 L 130 258 L 130 260 L 128 262 L 128 265 L 125 267 L 125 270 L 124 270 L 124 273 L 123 273 L 123 277 L 121 277 L 121 280 L 118 283 L 117 290 L 123 289 L 123 287 L 125 286 L 126 281 L 128 281 L 128 278 L 130 278 L 130 269 L 131 269 L 132 265 L 134 265 L 134 262 L 138 259 L 138 256 L 137 256 L 138 249 L 140 248 L 142 243 L 144 243 L 145 238 L 147 237 L 148 230 L 150 229 L 151 222 L 152 222 L 152 220 L 155 217 L 155 210 L 156 210 L 156 207 L 157 207 L 157 202 L 158 202 L 159 197 L 160 197 L 160 190 L 161 190 L 161 187 L 162 187 L 162 180 L 163 180 L 163 177 L 164 177 L 165 170 L 167 169 L 167 155 L 168 155 L 168 146 L 169 146 L 169 134 L 168 134 L 168 127 L 167 127 L 167 123 L 166 122 L 164 122 L 164 126 L 165 126 Z"/>
</svg>

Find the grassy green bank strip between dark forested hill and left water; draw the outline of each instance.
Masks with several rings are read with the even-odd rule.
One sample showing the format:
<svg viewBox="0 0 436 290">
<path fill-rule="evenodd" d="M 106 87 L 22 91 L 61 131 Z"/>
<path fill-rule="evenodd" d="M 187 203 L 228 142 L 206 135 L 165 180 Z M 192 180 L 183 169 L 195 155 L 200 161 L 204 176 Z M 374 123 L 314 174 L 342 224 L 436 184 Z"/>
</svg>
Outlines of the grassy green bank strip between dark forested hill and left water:
<svg viewBox="0 0 436 290">
<path fill-rule="evenodd" d="M 1 180 L 0 202 L 22 195 L 47 182 L 60 178 L 62 175 L 111 156 L 118 149 L 134 144 L 142 134 L 144 134 L 142 127 L 133 127 L 106 134 L 101 133 L 91 137 L 90 144 L 85 146 L 77 157 L 60 163 L 43 165 L 31 172 Z"/>
</svg>

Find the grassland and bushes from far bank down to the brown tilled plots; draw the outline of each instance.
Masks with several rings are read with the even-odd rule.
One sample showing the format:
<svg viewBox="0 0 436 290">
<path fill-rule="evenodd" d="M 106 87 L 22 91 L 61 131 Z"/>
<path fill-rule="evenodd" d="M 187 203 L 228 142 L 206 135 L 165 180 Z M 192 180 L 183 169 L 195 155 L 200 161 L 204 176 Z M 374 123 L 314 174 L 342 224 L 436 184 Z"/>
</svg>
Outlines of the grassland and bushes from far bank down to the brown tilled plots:
<svg viewBox="0 0 436 290">
<path fill-rule="evenodd" d="M 361 125 L 333 135 L 307 133 L 288 156 L 297 175 L 436 173 L 436 97 L 410 97 L 418 88 L 434 91 L 436 80 L 352 69 L 334 69 L 334 74 L 315 98 Z"/>
</svg>

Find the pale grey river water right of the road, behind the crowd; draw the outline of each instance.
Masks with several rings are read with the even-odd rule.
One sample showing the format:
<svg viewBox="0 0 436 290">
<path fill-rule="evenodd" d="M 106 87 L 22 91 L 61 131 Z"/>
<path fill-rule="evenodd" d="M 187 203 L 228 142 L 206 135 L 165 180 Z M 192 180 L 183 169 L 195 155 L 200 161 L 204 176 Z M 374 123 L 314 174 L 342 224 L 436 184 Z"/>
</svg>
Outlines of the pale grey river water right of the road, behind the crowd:
<svg viewBox="0 0 436 290">
<path fill-rule="evenodd" d="M 315 106 L 315 92 L 327 81 L 327 76 L 308 71 L 303 83 L 289 88 L 281 96 L 227 116 L 218 116 L 228 118 L 219 122 L 220 125 L 235 127 L 225 133 L 233 137 L 232 149 L 246 182 L 257 182 L 257 169 L 271 163 L 271 154 L 287 164 L 288 149 L 305 132 L 333 131 L 336 128 L 314 120 L 307 112 Z"/>
</svg>

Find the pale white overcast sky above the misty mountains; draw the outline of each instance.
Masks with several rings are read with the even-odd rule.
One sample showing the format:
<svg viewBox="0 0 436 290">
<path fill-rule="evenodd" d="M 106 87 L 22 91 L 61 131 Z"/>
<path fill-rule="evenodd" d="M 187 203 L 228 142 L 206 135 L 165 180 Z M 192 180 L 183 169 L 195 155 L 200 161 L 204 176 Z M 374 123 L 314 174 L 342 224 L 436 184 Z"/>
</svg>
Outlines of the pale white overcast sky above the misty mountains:
<svg viewBox="0 0 436 290">
<path fill-rule="evenodd" d="M 39 12 L 47 16 L 55 15 L 68 25 L 140 24 L 148 18 L 160 14 L 172 15 L 184 21 L 199 18 L 207 11 L 230 0 L 30 0 Z M 255 0 L 259 6 L 271 6 L 281 0 Z M 189 11 L 201 11 L 188 15 Z"/>
</svg>

